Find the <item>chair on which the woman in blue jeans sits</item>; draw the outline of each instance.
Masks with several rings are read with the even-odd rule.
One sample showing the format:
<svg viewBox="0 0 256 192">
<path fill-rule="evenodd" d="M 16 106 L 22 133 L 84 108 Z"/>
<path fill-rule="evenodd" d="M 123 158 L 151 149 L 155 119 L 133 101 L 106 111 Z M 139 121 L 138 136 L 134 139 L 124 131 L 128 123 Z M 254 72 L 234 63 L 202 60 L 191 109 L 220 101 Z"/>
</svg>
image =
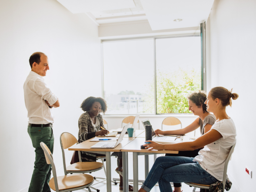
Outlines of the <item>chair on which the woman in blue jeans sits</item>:
<svg viewBox="0 0 256 192">
<path fill-rule="evenodd" d="M 222 184 L 223 184 L 223 192 L 225 191 L 225 185 L 226 185 L 226 177 L 227 177 L 227 170 L 228 170 L 228 162 L 234 151 L 234 148 L 236 146 L 236 143 L 231 147 L 229 153 L 228 153 L 228 157 L 225 161 L 225 164 L 224 164 L 224 171 L 223 171 L 223 178 L 222 178 Z M 194 187 L 193 191 L 196 191 L 196 188 L 201 188 L 201 189 L 210 189 L 210 185 L 201 185 L 201 184 L 197 184 L 197 183 L 187 183 L 185 182 L 185 184 L 189 185 L 190 187 Z"/>
</svg>

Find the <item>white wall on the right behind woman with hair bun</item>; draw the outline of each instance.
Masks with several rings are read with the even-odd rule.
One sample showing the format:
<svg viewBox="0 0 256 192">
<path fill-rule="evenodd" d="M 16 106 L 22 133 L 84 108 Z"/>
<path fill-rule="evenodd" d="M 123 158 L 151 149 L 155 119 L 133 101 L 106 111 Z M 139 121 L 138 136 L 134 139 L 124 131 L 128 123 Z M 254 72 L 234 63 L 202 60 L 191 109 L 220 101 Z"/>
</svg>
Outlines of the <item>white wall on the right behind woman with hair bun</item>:
<svg viewBox="0 0 256 192">
<path fill-rule="evenodd" d="M 245 172 L 245 166 L 256 172 L 255 10 L 255 0 L 215 0 L 206 28 L 210 30 L 210 42 L 207 42 L 210 43 L 211 54 L 211 68 L 208 69 L 211 72 L 210 88 L 233 88 L 233 92 L 239 94 L 232 108 L 227 109 L 237 131 L 237 144 L 228 176 L 238 192 L 255 191 L 256 182 L 255 174 L 250 179 Z"/>
</svg>

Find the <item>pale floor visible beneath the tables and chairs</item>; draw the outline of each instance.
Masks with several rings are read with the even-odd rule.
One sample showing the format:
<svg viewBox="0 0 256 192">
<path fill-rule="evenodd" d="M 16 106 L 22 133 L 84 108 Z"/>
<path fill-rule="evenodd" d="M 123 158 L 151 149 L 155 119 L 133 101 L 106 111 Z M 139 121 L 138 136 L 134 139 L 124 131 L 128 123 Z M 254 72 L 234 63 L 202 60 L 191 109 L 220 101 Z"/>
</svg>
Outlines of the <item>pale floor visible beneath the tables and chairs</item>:
<svg viewBox="0 0 256 192">
<path fill-rule="evenodd" d="M 160 155 L 158 155 L 160 156 Z M 129 179 L 132 179 L 133 178 L 133 170 L 132 170 L 132 153 L 128 153 L 128 161 L 129 161 Z M 101 161 L 100 161 L 101 162 Z M 138 166 L 138 169 L 139 169 L 139 180 L 143 180 L 145 179 L 145 172 L 144 172 L 144 156 L 139 156 L 139 159 L 138 159 L 138 162 L 139 162 L 139 166 Z M 150 155 L 149 156 L 149 170 L 150 168 L 152 167 L 154 163 L 154 157 L 153 155 Z M 119 175 L 115 172 L 115 169 L 117 167 L 117 163 L 116 163 L 116 158 L 115 157 L 111 157 L 111 176 L 112 178 L 119 178 Z M 91 174 L 92 176 L 94 177 L 105 177 L 105 173 L 104 173 L 104 170 L 101 169 L 100 171 L 97 171 L 97 172 L 93 172 Z M 95 180 L 94 182 L 98 182 L 100 180 Z M 132 184 L 132 182 L 131 182 Z M 139 183 L 139 188 L 140 188 L 140 185 L 142 183 Z M 97 188 L 97 189 L 100 189 L 100 192 L 106 192 L 107 191 L 107 184 L 106 184 L 106 181 L 105 182 L 102 182 L 102 183 L 99 183 L 97 185 L 94 185 L 93 186 L 94 188 Z M 92 192 L 96 192 L 96 190 L 93 190 L 91 189 Z M 192 192 L 193 188 L 189 187 L 188 185 L 182 183 L 182 187 L 181 187 L 181 190 L 183 190 L 183 192 Z M 115 185 L 114 183 L 112 183 L 112 192 L 116 192 L 116 191 L 123 191 L 123 190 L 120 190 L 119 189 L 119 182 L 117 185 Z M 200 189 L 196 189 L 196 191 L 200 191 Z M 52 192 L 54 192 L 52 190 Z M 77 190 L 77 192 L 88 192 L 88 189 L 81 189 L 81 190 Z M 158 185 L 156 185 L 152 190 L 151 192 L 160 192 L 159 190 L 159 187 Z M 236 190 L 232 190 L 232 188 L 230 189 L 229 192 L 236 192 Z"/>
</svg>

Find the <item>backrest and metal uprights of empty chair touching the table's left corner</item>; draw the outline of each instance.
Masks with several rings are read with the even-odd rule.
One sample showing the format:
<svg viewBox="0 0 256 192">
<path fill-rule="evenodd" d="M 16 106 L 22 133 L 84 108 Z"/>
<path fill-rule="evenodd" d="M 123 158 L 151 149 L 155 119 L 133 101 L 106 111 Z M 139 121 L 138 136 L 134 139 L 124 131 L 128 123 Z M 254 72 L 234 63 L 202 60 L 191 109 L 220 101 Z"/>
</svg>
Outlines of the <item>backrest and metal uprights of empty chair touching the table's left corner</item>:
<svg viewBox="0 0 256 192">
<path fill-rule="evenodd" d="M 64 167 L 64 173 L 67 175 L 67 169 L 66 169 L 66 159 L 65 159 L 65 152 L 64 149 L 67 149 L 75 144 L 78 144 L 78 141 L 74 135 L 68 132 L 63 132 L 60 134 L 60 147 L 62 151 L 62 159 L 63 159 L 63 167 Z M 81 162 L 81 154 L 80 151 L 78 151 L 79 160 Z"/>
</svg>

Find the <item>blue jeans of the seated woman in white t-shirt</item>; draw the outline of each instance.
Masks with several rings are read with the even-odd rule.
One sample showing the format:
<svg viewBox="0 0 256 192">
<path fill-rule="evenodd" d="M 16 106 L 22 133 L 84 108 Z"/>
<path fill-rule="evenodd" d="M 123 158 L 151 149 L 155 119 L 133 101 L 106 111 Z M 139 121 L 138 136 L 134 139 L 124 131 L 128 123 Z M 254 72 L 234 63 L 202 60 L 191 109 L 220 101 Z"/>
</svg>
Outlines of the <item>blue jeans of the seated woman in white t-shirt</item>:
<svg viewBox="0 0 256 192">
<path fill-rule="evenodd" d="M 141 188 L 149 192 L 158 182 L 161 192 L 172 192 L 170 182 L 210 185 L 218 180 L 193 162 L 194 157 L 162 156 L 156 159 Z"/>
</svg>

